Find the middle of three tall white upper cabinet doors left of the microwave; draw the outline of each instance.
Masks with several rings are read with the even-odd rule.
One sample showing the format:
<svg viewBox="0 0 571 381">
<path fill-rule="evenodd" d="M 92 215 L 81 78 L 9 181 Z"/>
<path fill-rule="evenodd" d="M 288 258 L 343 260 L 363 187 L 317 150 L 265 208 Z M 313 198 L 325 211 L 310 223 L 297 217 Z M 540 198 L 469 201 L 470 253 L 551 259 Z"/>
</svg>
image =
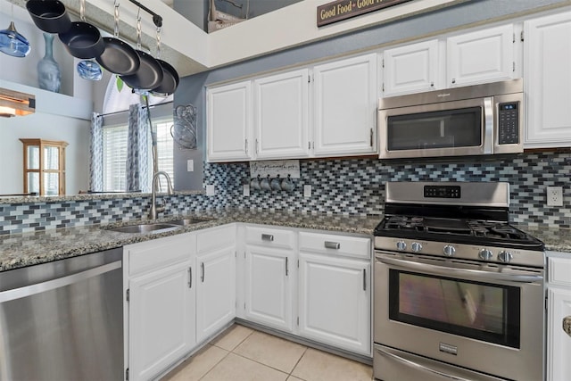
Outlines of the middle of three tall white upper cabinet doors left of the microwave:
<svg viewBox="0 0 571 381">
<path fill-rule="evenodd" d="M 255 157 L 309 156 L 309 70 L 294 70 L 255 79 Z"/>
</svg>

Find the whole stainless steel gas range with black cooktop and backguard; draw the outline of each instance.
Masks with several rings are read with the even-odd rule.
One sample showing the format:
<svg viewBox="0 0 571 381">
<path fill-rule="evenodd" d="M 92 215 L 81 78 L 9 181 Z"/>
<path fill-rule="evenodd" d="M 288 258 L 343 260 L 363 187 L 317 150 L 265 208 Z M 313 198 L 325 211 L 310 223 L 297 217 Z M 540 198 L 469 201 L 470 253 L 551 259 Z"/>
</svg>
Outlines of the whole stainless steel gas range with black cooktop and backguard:
<svg viewBox="0 0 571 381">
<path fill-rule="evenodd" d="M 374 375 L 543 379 L 543 244 L 509 184 L 393 182 L 375 229 Z"/>
</svg>

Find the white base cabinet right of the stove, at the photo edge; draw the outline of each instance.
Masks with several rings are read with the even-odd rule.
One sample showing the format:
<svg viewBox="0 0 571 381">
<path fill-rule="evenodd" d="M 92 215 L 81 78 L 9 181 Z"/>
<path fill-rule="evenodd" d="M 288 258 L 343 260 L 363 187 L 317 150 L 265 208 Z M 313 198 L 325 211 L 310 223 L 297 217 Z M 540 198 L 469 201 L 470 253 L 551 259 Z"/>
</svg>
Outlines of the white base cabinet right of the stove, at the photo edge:
<svg viewBox="0 0 571 381">
<path fill-rule="evenodd" d="M 571 319 L 571 253 L 554 255 L 548 259 L 547 381 L 562 381 L 571 379 L 571 336 L 563 331 L 563 319 Z"/>
</svg>

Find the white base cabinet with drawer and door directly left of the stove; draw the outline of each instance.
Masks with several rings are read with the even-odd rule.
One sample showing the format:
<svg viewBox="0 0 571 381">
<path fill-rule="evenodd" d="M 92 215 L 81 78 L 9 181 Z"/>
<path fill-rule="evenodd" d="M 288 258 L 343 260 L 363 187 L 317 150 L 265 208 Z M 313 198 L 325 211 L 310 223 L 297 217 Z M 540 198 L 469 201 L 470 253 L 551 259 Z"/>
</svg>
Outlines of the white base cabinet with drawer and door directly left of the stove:
<svg viewBox="0 0 571 381">
<path fill-rule="evenodd" d="M 371 353 L 370 240 L 300 233 L 299 333 Z"/>
</svg>

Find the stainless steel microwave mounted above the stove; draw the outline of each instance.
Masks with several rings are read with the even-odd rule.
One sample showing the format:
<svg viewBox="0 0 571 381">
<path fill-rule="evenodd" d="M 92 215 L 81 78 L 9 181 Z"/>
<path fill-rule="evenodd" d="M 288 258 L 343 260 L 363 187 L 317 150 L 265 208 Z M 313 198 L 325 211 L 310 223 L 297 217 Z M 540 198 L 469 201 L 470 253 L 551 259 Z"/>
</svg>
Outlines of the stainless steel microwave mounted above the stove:
<svg viewBox="0 0 571 381">
<path fill-rule="evenodd" d="M 521 153 L 523 80 L 379 100 L 381 159 Z"/>
</svg>

